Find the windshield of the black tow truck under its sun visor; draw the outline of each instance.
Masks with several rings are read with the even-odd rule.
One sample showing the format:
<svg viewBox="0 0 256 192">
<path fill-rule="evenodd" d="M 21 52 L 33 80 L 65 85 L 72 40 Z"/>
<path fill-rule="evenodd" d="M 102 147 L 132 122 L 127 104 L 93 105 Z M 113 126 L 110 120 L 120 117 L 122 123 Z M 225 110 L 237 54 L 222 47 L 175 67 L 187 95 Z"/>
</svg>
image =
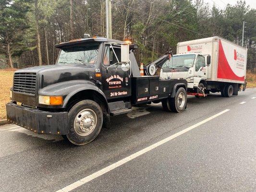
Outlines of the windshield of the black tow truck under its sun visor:
<svg viewBox="0 0 256 192">
<path fill-rule="evenodd" d="M 94 64 L 98 56 L 98 46 L 63 48 L 57 64 Z"/>
</svg>

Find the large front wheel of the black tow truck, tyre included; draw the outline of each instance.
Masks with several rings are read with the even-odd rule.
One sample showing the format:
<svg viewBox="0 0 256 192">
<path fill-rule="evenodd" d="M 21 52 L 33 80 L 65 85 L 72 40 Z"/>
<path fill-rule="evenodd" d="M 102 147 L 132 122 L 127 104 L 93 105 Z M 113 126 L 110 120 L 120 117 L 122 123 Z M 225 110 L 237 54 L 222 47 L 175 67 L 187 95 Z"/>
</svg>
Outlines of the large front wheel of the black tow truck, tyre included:
<svg viewBox="0 0 256 192">
<path fill-rule="evenodd" d="M 95 101 L 83 100 L 68 112 L 69 133 L 63 138 L 75 145 L 92 142 L 101 130 L 103 113 Z"/>
</svg>

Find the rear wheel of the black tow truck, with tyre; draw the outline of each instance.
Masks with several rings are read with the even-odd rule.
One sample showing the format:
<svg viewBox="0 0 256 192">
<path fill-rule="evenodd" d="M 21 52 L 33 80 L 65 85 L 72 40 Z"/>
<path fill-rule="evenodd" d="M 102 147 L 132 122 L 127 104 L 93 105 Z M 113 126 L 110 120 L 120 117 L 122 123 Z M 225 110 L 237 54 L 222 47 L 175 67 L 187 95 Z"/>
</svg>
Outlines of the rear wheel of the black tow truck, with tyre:
<svg viewBox="0 0 256 192">
<path fill-rule="evenodd" d="M 187 93 L 183 87 L 180 87 L 174 98 L 170 99 L 171 111 L 180 113 L 185 110 L 187 105 Z"/>
</svg>

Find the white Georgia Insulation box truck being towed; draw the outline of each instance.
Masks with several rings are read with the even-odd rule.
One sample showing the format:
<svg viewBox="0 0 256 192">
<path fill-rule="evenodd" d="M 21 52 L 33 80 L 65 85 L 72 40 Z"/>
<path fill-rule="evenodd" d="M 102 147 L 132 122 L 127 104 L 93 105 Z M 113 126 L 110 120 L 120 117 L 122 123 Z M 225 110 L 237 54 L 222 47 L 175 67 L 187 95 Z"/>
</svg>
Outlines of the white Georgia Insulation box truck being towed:
<svg viewBox="0 0 256 192">
<path fill-rule="evenodd" d="M 237 96 L 246 86 L 246 58 L 246 48 L 219 36 L 180 42 L 177 54 L 162 64 L 160 78 L 186 79 L 188 92 L 197 97 Z"/>
</svg>

